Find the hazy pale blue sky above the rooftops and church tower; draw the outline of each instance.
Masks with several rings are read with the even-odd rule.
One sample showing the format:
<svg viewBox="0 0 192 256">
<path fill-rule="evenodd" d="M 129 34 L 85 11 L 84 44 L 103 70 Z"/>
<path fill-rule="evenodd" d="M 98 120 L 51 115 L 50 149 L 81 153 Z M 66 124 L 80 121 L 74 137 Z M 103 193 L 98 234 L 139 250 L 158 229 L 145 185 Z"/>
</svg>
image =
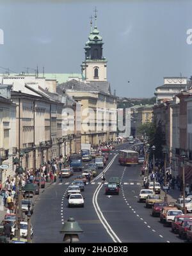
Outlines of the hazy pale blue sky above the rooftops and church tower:
<svg viewBox="0 0 192 256">
<path fill-rule="evenodd" d="M 22 72 L 38 64 L 39 72 L 81 72 L 97 6 L 108 81 L 117 95 L 153 97 L 164 76 L 192 75 L 192 44 L 186 43 L 191 1 L 0 0 L 0 6 L 0 67 Z"/>
</svg>

